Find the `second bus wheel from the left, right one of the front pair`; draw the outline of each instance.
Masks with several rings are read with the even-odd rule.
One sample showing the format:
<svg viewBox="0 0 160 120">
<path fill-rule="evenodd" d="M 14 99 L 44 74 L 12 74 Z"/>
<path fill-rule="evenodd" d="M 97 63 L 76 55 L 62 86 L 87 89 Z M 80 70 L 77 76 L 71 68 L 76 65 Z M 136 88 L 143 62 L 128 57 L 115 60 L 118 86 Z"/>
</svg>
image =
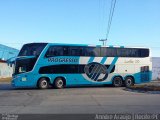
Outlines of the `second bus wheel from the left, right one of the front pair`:
<svg viewBox="0 0 160 120">
<path fill-rule="evenodd" d="M 55 79 L 54 87 L 56 89 L 62 89 L 62 88 L 64 88 L 64 85 L 65 85 L 65 82 L 64 82 L 63 78 L 58 77 Z"/>
</svg>

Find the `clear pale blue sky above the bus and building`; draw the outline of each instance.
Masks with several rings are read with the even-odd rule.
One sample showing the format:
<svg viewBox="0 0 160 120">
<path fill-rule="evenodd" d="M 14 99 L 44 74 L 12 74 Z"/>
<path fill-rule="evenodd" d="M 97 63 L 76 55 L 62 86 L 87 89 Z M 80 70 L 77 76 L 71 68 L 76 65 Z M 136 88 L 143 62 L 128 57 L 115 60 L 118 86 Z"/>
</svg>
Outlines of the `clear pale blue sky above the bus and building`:
<svg viewBox="0 0 160 120">
<path fill-rule="evenodd" d="M 0 43 L 102 44 L 111 0 L 0 0 Z M 107 45 L 149 47 L 160 57 L 160 0 L 117 0 Z"/>
</svg>

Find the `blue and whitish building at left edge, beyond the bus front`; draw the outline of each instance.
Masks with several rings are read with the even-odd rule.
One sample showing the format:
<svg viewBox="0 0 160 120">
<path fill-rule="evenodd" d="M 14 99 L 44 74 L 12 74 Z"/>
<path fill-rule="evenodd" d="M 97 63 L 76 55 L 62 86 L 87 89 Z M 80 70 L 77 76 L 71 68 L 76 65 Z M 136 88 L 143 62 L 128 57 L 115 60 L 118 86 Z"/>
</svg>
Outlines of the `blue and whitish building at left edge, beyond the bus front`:
<svg viewBox="0 0 160 120">
<path fill-rule="evenodd" d="M 19 50 L 0 44 L 0 78 L 11 77 L 13 67 L 8 66 L 6 61 L 10 58 L 16 57 Z"/>
</svg>

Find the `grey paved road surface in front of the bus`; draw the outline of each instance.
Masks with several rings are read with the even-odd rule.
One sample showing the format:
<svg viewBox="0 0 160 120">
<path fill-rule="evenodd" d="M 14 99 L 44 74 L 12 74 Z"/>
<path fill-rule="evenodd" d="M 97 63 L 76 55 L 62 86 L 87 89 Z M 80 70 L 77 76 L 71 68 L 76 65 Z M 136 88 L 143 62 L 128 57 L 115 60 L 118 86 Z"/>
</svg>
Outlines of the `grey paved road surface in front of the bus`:
<svg viewBox="0 0 160 120">
<path fill-rule="evenodd" d="M 114 87 L 13 89 L 0 84 L 0 113 L 159 113 L 160 94 Z"/>
</svg>

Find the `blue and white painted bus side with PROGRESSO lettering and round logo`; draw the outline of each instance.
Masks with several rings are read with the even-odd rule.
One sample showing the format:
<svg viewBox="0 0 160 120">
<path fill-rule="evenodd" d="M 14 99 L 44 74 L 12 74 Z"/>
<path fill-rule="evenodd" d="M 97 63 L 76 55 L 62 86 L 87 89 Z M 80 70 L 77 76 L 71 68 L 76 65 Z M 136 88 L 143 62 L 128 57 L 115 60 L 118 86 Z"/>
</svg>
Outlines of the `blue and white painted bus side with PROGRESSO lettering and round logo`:
<svg viewBox="0 0 160 120">
<path fill-rule="evenodd" d="M 68 59 L 70 59 L 68 61 Z M 99 64 L 98 64 L 99 63 Z M 133 76 L 135 83 L 142 83 L 148 81 L 142 81 L 142 66 L 149 66 L 149 81 L 151 80 L 151 62 L 149 58 L 117 58 L 117 57 L 54 57 L 54 58 L 43 58 L 38 63 L 36 70 L 39 70 L 41 66 L 50 65 L 62 65 L 62 64 L 77 64 L 77 65 L 94 65 L 90 73 L 79 73 L 79 74 L 47 74 L 51 76 L 52 83 L 58 76 L 64 76 L 67 80 L 67 85 L 83 85 L 83 84 L 111 84 L 114 76 L 122 76 L 124 79 L 127 76 Z M 99 66 L 97 66 L 99 65 Z M 103 71 L 104 65 L 109 65 L 106 68 L 106 72 Z M 91 67 L 91 66 L 89 66 Z M 114 71 L 111 70 L 115 67 Z M 90 68 L 89 68 L 90 69 Z M 37 71 L 39 72 L 39 71 Z M 92 75 L 93 74 L 93 75 Z M 43 76 L 43 74 L 41 75 Z"/>
</svg>

